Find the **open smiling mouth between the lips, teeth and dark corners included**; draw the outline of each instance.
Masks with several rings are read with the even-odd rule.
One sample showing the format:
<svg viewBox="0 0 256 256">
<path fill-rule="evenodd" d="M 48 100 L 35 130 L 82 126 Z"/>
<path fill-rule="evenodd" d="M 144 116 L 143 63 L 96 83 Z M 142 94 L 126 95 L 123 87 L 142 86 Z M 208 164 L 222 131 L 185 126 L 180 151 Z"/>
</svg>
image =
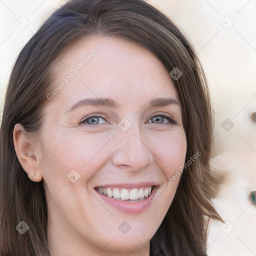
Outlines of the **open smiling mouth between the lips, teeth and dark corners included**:
<svg viewBox="0 0 256 256">
<path fill-rule="evenodd" d="M 147 185 L 135 188 L 122 187 L 95 187 L 100 194 L 120 201 L 137 202 L 146 199 L 152 193 L 154 185 Z"/>
</svg>

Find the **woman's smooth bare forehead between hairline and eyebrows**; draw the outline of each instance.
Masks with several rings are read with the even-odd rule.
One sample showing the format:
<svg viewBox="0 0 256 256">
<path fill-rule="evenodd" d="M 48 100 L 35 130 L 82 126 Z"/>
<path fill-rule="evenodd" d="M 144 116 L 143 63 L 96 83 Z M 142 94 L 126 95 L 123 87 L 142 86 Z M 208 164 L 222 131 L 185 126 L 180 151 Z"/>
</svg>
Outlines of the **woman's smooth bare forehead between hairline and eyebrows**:
<svg viewBox="0 0 256 256">
<path fill-rule="evenodd" d="M 57 87 L 52 101 L 66 103 L 84 97 L 131 104 L 154 95 L 178 98 L 168 71 L 151 51 L 130 40 L 99 35 L 79 39 L 57 58 L 50 91 Z"/>
</svg>

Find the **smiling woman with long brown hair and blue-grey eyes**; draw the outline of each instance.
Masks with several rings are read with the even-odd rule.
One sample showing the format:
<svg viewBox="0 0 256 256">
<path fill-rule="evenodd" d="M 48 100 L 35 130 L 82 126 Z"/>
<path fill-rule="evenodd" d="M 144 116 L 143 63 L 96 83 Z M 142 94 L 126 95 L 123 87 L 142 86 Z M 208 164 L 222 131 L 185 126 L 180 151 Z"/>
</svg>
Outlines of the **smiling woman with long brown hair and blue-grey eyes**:
<svg viewBox="0 0 256 256">
<path fill-rule="evenodd" d="M 206 255 L 210 100 L 142 0 L 71 0 L 21 50 L 1 124 L 0 255 Z"/>
</svg>

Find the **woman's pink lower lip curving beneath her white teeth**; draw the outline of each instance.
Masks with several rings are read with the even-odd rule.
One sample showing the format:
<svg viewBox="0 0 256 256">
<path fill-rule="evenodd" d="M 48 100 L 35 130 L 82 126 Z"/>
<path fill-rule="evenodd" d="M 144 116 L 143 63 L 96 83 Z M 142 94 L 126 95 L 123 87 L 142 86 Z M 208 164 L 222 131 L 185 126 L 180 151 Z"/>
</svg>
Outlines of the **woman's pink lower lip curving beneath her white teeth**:
<svg viewBox="0 0 256 256">
<path fill-rule="evenodd" d="M 113 197 L 108 197 L 107 195 L 103 195 L 96 189 L 95 191 L 100 196 L 100 198 L 102 198 L 102 200 L 104 200 L 106 203 L 110 204 L 111 206 L 117 209 L 120 209 L 125 213 L 138 214 L 140 212 L 145 211 L 149 207 L 150 203 L 152 203 L 149 200 L 149 197 L 152 196 L 152 194 L 154 194 L 155 189 L 156 187 L 153 188 L 149 196 L 147 196 L 145 199 L 140 201 L 132 201 L 132 200 L 124 201 L 120 199 L 115 199 Z"/>
</svg>

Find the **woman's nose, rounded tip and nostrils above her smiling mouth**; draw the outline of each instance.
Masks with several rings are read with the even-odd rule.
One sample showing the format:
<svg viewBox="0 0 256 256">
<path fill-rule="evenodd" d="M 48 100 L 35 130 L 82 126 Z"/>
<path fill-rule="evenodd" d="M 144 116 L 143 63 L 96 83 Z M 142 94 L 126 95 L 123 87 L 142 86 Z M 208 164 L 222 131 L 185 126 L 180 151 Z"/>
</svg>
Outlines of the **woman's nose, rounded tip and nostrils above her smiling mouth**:
<svg viewBox="0 0 256 256">
<path fill-rule="evenodd" d="M 148 139 L 141 135 L 139 128 L 132 125 L 127 131 L 118 131 L 116 136 L 117 148 L 112 156 L 112 163 L 120 167 L 129 166 L 133 171 L 140 171 L 153 163 L 153 155 Z"/>
</svg>

